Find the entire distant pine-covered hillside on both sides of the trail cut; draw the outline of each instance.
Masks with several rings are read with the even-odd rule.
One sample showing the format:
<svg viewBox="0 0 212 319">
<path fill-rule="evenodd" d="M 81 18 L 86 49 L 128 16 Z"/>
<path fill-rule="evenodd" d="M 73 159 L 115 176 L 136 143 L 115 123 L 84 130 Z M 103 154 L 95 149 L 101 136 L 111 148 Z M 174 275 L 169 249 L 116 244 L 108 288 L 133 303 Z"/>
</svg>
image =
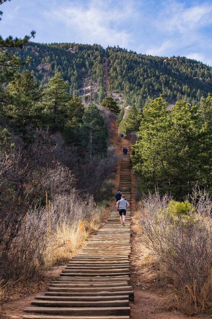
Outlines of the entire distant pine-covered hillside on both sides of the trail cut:
<svg viewBox="0 0 212 319">
<path fill-rule="evenodd" d="M 104 56 L 108 57 L 110 93 L 123 95 L 125 105 L 142 108 L 148 97 L 163 94 L 169 103 L 184 100 L 192 105 L 212 92 L 212 68 L 185 57 L 159 57 L 137 54 L 117 47 L 103 49 L 100 45 L 75 43 L 41 44 L 30 42 L 17 52 L 23 60 L 31 61 L 24 67 L 46 87 L 48 78 L 59 72 L 70 84 L 70 92 L 80 96 L 84 83 L 97 81 L 98 94 L 93 99 L 103 99 Z"/>
</svg>

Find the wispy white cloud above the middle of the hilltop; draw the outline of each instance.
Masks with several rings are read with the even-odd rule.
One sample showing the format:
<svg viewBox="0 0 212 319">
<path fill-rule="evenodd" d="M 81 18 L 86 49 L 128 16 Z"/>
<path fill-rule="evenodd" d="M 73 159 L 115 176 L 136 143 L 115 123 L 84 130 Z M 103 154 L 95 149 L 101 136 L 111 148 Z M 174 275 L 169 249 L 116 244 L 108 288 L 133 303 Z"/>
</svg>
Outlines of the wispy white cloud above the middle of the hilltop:
<svg viewBox="0 0 212 319">
<path fill-rule="evenodd" d="M 107 45 L 112 42 L 124 47 L 127 47 L 132 37 L 127 24 L 133 14 L 133 2 L 122 1 L 121 5 L 110 7 L 110 3 L 102 0 L 92 0 L 86 5 L 66 2 L 57 6 L 57 10 L 52 8 L 46 12 L 48 19 L 53 16 L 57 22 L 63 22 L 84 43 L 104 42 Z"/>
</svg>

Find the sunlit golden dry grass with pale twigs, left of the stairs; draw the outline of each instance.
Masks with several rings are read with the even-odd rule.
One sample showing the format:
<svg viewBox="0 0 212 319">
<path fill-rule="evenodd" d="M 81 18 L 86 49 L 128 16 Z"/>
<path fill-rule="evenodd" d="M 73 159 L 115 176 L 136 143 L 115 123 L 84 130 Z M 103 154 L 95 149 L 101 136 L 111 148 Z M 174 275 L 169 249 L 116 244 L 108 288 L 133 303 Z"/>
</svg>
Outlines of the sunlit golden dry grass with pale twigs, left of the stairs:
<svg viewBox="0 0 212 319">
<path fill-rule="evenodd" d="M 108 211 L 96 208 L 91 196 L 79 199 L 75 190 L 71 194 L 58 194 L 48 209 L 42 207 L 31 211 L 28 223 L 39 223 L 40 230 L 46 231 L 44 268 L 66 262 L 76 255 L 107 214 Z"/>
</svg>

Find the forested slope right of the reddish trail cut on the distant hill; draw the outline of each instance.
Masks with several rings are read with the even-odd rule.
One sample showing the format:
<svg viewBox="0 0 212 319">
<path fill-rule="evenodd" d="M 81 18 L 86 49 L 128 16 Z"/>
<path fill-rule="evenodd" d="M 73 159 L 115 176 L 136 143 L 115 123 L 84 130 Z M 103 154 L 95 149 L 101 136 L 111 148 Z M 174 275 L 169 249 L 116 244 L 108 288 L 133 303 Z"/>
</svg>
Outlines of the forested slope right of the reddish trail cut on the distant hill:
<svg viewBox="0 0 212 319">
<path fill-rule="evenodd" d="M 169 102 L 184 100 L 200 105 L 212 90 L 212 68 L 195 60 L 147 56 L 108 47 L 110 85 L 123 93 L 127 105 L 142 108 L 148 97 L 163 94 Z"/>
</svg>

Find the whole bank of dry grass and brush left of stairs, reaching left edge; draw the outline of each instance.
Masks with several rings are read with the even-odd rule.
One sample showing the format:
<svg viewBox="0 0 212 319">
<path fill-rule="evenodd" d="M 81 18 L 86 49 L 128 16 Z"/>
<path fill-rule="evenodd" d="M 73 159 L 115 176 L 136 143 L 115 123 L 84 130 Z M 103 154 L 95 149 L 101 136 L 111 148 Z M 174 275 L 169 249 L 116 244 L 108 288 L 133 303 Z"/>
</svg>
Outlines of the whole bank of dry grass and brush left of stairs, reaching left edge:
<svg viewBox="0 0 212 319">
<path fill-rule="evenodd" d="M 7 278 L 0 287 L 0 305 L 9 298 L 17 281 L 24 285 L 42 278 L 53 265 L 78 254 L 108 214 L 105 208 L 96 207 L 92 196 L 80 198 L 75 189 L 55 194 L 51 201 L 47 197 L 46 206 L 29 210 L 5 260 Z"/>
</svg>

